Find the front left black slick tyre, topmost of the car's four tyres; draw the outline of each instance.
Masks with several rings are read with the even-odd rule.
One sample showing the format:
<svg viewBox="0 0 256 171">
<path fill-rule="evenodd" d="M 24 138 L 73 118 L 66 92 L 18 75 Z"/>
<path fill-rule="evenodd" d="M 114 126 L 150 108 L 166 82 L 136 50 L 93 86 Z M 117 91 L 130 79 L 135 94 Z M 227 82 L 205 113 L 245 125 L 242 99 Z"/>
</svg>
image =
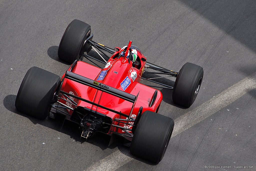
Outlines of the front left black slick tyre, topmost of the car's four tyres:
<svg viewBox="0 0 256 171">
<path fill-rule="evenodd" d="M 58 56 L 63 61 L 72 64 L 84 52 L 89 52 L 89 43 L 84 41 L 91 34 L 91 26 L 80 20 L 73 20 L 65 30 L 58 49 Z"/>
</svg>

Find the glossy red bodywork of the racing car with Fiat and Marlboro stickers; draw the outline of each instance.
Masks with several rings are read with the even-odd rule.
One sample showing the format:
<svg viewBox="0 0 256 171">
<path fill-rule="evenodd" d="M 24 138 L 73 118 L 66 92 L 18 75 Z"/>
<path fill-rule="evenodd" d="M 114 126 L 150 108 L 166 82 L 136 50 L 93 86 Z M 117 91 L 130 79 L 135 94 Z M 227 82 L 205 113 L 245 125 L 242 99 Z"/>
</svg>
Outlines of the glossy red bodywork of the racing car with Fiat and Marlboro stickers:
<svg viewBox="0 0 256 171">
<path fill-rule="evenodd" d="M 118 48 L 118 47 L 117 47 Z M 121 48 L 118 48 L 121 50 Z M 135 103 L 133 112 L 131 117 L 134 119 L 136 118 L 138 114 L 139 108 L 142 106 L 143 107 L 143 112 L 146 110 L 153 111 L 153 112 L 158 112 L 159 106 L 162 102 L 162 93 L 157 90 L 157 97 L 154 102 L 154 104 L 149 107 L 149 103 L 152 99 L 152 96 L 156 89 L 145 86 L 144 84 L 140 83 L 141 80 L 141 75 L 144 69 L 144 65 L 146 64 L 145 62 L 145 57 L 138 51 L 138 57 L 140 58 L 141 62 L 141 67 L 136 68 L 132 66 L 132 62 L 128 62 L 127 58 L 120 57 L 120 58 L 115 58 L 119 52 L 115 52 L 112 57 L 108 60 L 108 63 L 105 65 L 103 69 L 95 67 L 91 64 L 85 63 L 83 61 L 78 61 L 75 66 L 73 66 L 72 71 L 78 75 L 81 75 L 83 77 L 87 77 L 89 79 L 95 80 L 99 83 L 103 83 L 107 86 L 125 91 L 127 93 L 130 93 L 132 95 L 137 95 L 138 93 L 138 98 Z M 144 58 L 144 61 L 141 60 L 141 58 Z M 71 67 L 70 67 L 71 68 Z M 68 71 L 70 71 L 70 68 Z M 136 74 L 135 74 L 136 72 Z M 65 76 L 65 74 L 62 76 Z M 130 80 L 128 81 L 128 86 L 127 86 L 127 81 L 125 86 L 122 84 L 127 77 Z M 121 85 L 122 84 L 122 85 Z M 124 90 L 125 89 L 125 90 Z M 92 87 L 85 86 L 83 84 L 80 84 L 78 82 L 66 79 L 63 82 L 62 85 L 62 91 L 69 92 L 70 94 L 76 95 L 78 97 L 81 97 L 83 99 L 98 103 L 102 106 L 114 109 L 115 111 L 124 113 L 126 115 L 130 115 L 131 108 L 133 103 L 129 101 L 125 101 L 119 97 L 116 97 L 112 94 L 98 91 Z M 120 124 L 116 123 L 114 121 L 115 118 L 123 118 L 125 119 L 124 116 L 121 116 L 119 114 L 113 113 L 111 111 L 108 111 L 106 109 L 97 107 L 95 105 L 89 104 L 87 102 L 74 99 L 73 97 L 70 97 L 72 100 L 74 100 L 78 105 L 81 107 L 86 107 L 88 109 L 92 109 L 93 111 L 97 111 L 99 113 L 105 114 L 106 116 L 110 117 L 112 119 L 112 124 L 118 124 L 122 127 L 127 127 L 132 129 L 131 125 L 125 125 L 125 124 Z M 68 99 L 67 99 L 68 100 Z M 69 100 L 68 100 L 69 101 Z M 71 103 L 68 103 L 64 100 L 60 100 L 60 102 L 72 107 L 76 108 L 77 106 L 72 105 Z M 70 115 L 72 115 L 73 111 L 66 109 Z M 69 119 L 69 118 L 67 118 Z M 122 133 L 124 132 L 122 129 L 116 128 L 116 127 L 111 127 L 111 131 L 114 132 L 119 132 Z M 109 131 L 108 134 L 111 134 L 112 132 Z M 131 132 L 131 131 L 129 131 Z"/>
</svg>

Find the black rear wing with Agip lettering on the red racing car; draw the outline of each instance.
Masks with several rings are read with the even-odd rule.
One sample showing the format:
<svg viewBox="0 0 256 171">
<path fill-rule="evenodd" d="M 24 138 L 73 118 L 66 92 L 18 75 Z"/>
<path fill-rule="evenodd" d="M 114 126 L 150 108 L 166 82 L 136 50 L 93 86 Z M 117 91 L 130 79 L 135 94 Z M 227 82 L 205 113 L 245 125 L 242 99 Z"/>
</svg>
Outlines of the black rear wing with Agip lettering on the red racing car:
<svg viewBox="0 0 256 171">
<path fill-rule="evenodd" d="M 102 106 L 102 105 L 100 105 L 100 104 L 98 104 L 98 103 L 94 103 L 94 102 L 92 102 L 92 101 L 83 99 L 83 98 L 78 97 L 78 96 L 76 96 L 76 95 L 73 95 L 73 94 L 70 94 L 70 93 L 67 93 L 67 92 L 65 92 L 65 91 L 60 90 L 65 79 L 69 79 L 69 80 L 78 82 L 78 83 L 80 83 L 80 84 L 83 84 L 83 85 L 86 85 L 86 86 L 95 88 L 95 89 L 100 90 L 100 91 L 102 91 L 102 92 L 106 92 L 106 93 L 109 93 L 109 94 L 114 95 L 114 96 L 116 96 L 116 97 L 119 97 L 119 98 L 121 98 L 121 99 L 124 99 L 124 100 L 126 100 L 126 101 L 132 102 L 133 105 L 132 105 L 132 108 L 131 108 L 130 115 L 123 114 L 123 113 L 121 113 L 121 112 L 115 111 L 115 110 L 110 109 L 110 108 L 108 108 L 108 107 Z M 70 97 L 74 97 L 74 98 L 76 98 L 76 99 L 78 99 L 78 100 L 81 100 L 81 101 L 90 103 L 90 104 L 92 104 L 92 105 L 98 106 L 98 107 L 100 107 L 100 108 L 106 109 L 106 110 L 108 110 L 108 111 L 111 111 L 111 112 L 113 112 L 113 113 L 119 114 L 119 115 L 124 116 L 124 117 L 127 117 L 127 118 L 130 118 L 130 117 L 131 117 L 133 108 L 134 108 L 134 106 L 135 106 L 135 103 L 136 103 L 136 100 L 137 100 L 137 97 L 138 97 L 138 94 L 139 94 L 139 93 L 138 93 L 138 94 L 135 96 L 135 95 L 126 93 L 126 92 L 124 92 L 124 91 L 118 90 L 118 89 L 116 89 L 116 88 L 107 86 L 107 85 L 105 85 L 105 84 L 99 83 L 99 82 L 97 82 L 97 81 L 91 80 L 91 79 L 89 79 L 89 78 L 83 77 L 83 76 L 81 76 L 81 75 L 75 74 L 75 73 L 70 72 L 70 71 L 66 71 L 66 74 L 65 74 L 64 78 L 62 79 L 61 86 L 60 86 L 60 88 L 59 88 L 59 91 L 57 92 L 57 95 L 59 95 L 59 93 L 65 94 L 65 95 L 70 96 Z M 129 120 L 129 119 L 128 119 L 128 120 Z M 128 122 L 128 121 L 127 121 L 127 122 Z"/>
</svg>

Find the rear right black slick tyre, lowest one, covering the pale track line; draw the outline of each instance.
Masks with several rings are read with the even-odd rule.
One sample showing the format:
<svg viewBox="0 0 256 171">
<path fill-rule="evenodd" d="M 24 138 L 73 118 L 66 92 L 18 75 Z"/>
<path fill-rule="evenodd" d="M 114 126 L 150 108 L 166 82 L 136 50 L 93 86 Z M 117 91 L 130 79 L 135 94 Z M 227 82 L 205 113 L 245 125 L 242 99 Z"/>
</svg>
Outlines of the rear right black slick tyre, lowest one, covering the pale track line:
<svg viewBox="0 0 256 171">
<path fill-rule="evenodd" d="M 173 128 L 173 119 L 151 111 L 143 112 L 132 138 L 131 153 L 159 163 L 164 157 Z"/>
</svg>

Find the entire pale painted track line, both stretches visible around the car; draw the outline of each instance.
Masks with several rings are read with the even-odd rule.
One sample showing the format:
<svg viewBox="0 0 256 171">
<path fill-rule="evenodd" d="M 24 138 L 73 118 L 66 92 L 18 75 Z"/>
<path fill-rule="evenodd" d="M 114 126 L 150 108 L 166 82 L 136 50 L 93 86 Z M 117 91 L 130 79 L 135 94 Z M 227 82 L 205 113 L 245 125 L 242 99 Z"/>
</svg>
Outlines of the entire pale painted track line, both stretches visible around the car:
<svg viewBox="0 0 256 171">
<path fill-rule="evenodd" d="M 193 125 L 199 123 L 200 121 L 206 119 L 212 114 L 218 112 L 220 109 L 226 107 L 232 102 L 236 101 L 239 97 L 243 96 L 247 92 L 256 88 L 256 72 L 251 76 L 244 78 L 228 89 L 224 90 L 220 94 L 211 98 L 207 102 L 196 107 L 192 111 L 187 112 L 186 114 L 175 119 L 174 131 L 172 137 L 178 135 L 179 133 L 187 130 Z M 122 154 L 119 150 L 113 152 L 109 156 L 103 158 L 102 160 L 94 163 L 86 170 L 116 170 L 119 167 L 125 165 L 126 163 L 133 160 L 133 158 Z M 86 171 L 84 170 L 84 171 Z"/>
</svg>

